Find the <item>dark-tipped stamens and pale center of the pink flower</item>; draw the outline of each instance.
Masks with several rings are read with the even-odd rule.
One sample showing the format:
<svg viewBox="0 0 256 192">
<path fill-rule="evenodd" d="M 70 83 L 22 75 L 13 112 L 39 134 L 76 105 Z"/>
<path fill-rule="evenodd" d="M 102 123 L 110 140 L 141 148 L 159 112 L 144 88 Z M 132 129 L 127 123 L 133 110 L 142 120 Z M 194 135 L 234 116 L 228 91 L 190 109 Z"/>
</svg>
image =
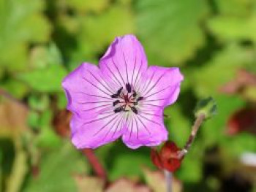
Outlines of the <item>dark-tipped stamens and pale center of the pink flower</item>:
<svg viewBox="0 0 256 192">
<path fill-rule="evenodd" d="M 125 89 L 123 87 L 119 88 L 115 94 L 111 95 L 111 98 L 116 99 L 113 101 L 113 107 L 116 107 L 114 112 L 129 112 L 132 111 L 138 114 L 138 104 L 139 101 L 143 100 L 143 96 L 138 96 L 132 86 L 127 83 Z"/>
</svg>

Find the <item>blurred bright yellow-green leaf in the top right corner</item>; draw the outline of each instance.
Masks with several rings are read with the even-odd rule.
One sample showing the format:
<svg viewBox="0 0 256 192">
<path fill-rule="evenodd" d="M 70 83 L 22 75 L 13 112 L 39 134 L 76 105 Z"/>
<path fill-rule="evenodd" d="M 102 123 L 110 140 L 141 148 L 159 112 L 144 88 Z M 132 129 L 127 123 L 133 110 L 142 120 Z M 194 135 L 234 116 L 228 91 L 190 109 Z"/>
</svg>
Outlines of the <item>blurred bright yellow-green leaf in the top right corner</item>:
<svg viewBox="0 0 256 192">
<path fill-rule="evenodd" d="M 207 22 L 212 34 L 224 41 L 256 41 L 256 3 L 252 0 L 215 0 L 220 14 Z M 250 8 L 249 8 L 250 7 Z"/>
</svg>

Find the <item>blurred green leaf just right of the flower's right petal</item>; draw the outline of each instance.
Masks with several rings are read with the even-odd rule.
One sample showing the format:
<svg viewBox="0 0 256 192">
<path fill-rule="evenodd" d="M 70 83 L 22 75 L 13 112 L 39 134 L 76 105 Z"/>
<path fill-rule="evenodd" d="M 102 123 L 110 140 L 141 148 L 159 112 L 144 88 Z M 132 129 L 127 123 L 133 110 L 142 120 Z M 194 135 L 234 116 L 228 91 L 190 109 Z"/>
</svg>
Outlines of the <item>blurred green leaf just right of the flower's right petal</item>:
<svg viewBox="0 0 256 192">
<path fill-rule="evenodd" d="M 221 85 L 233 80 L 238 69 L 253 63 L 253 50 L 230 44 L 216 53 L 208 64 L 191 72 L 189 82 L 197 96 L 216 96 Z"/>
</svg>

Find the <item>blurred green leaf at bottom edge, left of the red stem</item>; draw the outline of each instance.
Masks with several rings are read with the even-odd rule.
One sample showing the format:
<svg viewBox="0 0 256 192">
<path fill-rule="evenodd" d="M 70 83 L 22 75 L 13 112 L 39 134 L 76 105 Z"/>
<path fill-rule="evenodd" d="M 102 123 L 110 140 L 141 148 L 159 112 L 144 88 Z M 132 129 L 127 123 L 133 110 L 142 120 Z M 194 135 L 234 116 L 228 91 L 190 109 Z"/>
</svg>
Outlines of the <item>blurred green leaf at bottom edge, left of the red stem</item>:
<svg viewBox="0 0 256 192">
<path fill-rule="evenodd" d="M 73 174 L 86 172 L 83 157 L 69 143 L 48 152 L 39 165 L 39 175 L 30 177 L 24 191 L 77 191 Z"/>
</svg>

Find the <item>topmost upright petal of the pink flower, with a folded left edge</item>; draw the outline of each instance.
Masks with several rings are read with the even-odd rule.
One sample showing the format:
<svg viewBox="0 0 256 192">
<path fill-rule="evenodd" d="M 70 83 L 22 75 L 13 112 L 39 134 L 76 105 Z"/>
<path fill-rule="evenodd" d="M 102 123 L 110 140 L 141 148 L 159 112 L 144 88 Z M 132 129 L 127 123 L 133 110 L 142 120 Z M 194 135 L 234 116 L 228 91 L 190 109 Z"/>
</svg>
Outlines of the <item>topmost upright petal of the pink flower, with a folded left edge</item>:
<svg viewBox="0 0 256 192">
<path fill-rule="evenodd" d="M 146 71 L 146 55 L 135 36 L 116 37 L 99 61 L 99 68 L 118 88 L 125 87 L 127 82 L 135 86 Z"/>
</svg>

